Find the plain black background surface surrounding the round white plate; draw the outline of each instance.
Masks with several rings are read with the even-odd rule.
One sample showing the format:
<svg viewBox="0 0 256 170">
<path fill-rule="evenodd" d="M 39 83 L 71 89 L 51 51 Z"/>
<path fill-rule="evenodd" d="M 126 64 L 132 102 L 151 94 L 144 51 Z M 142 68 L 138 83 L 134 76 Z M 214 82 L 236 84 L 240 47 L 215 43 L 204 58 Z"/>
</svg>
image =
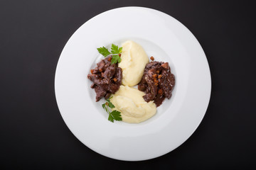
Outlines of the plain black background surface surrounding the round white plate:
<svg viewBox="0 0 256 170">
<path fill-rule="evenodd" d="M 255 168 L 256 13 L 249 2 L 0 0 L 0 168 Z M 212 77 L 196 132 L 169 154 L 143 162 L 85 147 L 55 101 L 55 67 L 65 43 L 93 16 L 121 6 L 155 8 L 181 21 L 206 52 Z"/>
</svg>

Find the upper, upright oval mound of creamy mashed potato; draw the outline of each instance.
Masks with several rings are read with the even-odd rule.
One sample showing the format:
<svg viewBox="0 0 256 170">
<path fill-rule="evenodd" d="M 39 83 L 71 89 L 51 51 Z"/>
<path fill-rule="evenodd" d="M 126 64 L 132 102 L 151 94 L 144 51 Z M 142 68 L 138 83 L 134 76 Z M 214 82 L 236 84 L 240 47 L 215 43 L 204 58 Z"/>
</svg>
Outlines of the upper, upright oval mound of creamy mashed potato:
<svg viewBox="0 0 256 170">
<path fill-rule="evenodd" d="M 128 40 L 122 45 L 122 61 L 118 67 L 122 68 L 122 84 L 135 86 L 142 79 L 144 68 L 149 58 L 141 45 Z"/>
</svg>

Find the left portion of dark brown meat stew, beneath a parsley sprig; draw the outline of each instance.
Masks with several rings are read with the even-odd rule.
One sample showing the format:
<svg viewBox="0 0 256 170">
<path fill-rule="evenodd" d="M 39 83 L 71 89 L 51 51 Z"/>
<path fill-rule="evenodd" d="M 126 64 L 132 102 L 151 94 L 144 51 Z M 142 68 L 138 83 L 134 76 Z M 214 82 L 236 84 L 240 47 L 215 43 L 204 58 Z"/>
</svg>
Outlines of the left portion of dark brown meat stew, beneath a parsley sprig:
<svg viewBox="0 0 256 170">
<path fill-rule="evenodd" d="M 95 69 L 87 77 L 92 81 L 91 88 L 95 89 L 96 101 L 100 98 L 109 98 L 118 91 L 122 82 L 122 69 L 117 64 L 111 64 L 112 56 L 106 57 L 97 63 Z"/>
</svg>

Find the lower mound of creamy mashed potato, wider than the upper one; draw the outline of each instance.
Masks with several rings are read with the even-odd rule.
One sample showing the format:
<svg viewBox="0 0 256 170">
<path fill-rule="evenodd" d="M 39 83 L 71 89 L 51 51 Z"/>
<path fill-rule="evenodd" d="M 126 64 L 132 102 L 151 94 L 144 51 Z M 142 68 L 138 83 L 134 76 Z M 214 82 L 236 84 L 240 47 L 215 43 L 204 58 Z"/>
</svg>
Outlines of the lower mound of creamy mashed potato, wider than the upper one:
<svg viewBox="0 0 256 170">
<path fill-rule="evenodd" d="M 151 118 L 156 113 L 156 104 L 153 101 L 144 101 L 144 92 L 129 86 L 120 86 L 119 90 L 112 95 L 110 101 L 121 112 L 122 121 L 127 123 L 140 123 Z"/>
</svg>

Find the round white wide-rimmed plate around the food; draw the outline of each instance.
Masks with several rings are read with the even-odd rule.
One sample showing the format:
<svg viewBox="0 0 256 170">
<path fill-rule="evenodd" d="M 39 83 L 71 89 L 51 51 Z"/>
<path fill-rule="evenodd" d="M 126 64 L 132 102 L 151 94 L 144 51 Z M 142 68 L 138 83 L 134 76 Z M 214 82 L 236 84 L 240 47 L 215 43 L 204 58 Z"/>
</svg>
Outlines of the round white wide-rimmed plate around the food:
<svg viewBox="0 0 256 170">
<path fill-rule="evenodd" d="M 176 77 L 170 100 L 139 124 L 107 120 L 102 99 L 87 79 L 100 60 L 97 47 L 138 42 L 147 55 L 169 62 Z M 210 99 L 210 70 L 193 34 L 176 19 L 151 8 L 115 8 L 87 21 L 68 40 L 55 73 L 58 108 L 71 132 L 95 152 L 139 161 L 171 152 L 196 130 Z"/>
</svg>

